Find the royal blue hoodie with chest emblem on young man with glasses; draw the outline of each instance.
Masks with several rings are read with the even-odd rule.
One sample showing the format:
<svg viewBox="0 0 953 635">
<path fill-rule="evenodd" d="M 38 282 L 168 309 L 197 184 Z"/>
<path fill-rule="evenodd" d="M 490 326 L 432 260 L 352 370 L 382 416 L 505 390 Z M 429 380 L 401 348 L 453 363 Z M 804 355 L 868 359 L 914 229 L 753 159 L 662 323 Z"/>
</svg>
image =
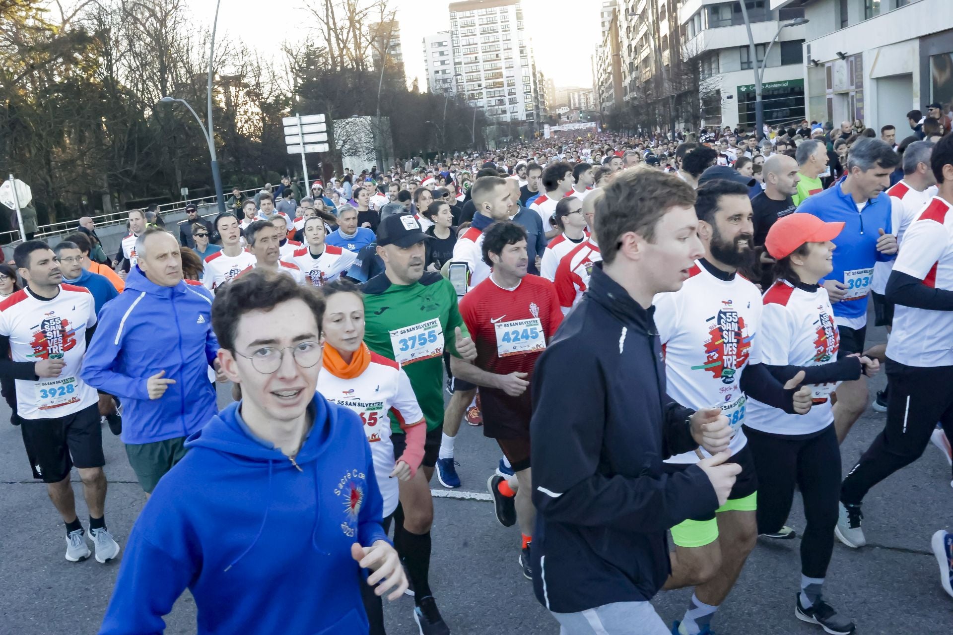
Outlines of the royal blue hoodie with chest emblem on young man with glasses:
<svg viewBox="0 0 953 635">
<path fill-rule="evenodd" d="M 387 540 L 371 446 L 315 393 L 294 462 L 253 437 L 240 403 L 186 442 L 132 527 L 102 635 L 161 633 L 189 588 L 199 635 L 368 632 L 351 546 Z"/>
</svg>

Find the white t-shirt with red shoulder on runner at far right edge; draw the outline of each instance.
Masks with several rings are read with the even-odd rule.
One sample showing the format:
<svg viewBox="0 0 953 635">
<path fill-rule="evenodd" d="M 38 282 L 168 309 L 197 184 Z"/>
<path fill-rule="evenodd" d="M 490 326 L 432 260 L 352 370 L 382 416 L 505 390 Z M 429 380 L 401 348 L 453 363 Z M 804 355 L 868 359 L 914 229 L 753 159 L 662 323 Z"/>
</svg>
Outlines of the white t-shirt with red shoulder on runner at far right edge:
<svg viewBox="0 0 953 635">
<path fill-rule="evenodd" d="M 953 290 L 951 207 L 940 196 L 930 200 L 903 234 L 894 270 L 923 280 L 929 288 Z M 886 355 L 906 366 L 953 366 L 953 311 L 897 305 Z"/>
</svg>

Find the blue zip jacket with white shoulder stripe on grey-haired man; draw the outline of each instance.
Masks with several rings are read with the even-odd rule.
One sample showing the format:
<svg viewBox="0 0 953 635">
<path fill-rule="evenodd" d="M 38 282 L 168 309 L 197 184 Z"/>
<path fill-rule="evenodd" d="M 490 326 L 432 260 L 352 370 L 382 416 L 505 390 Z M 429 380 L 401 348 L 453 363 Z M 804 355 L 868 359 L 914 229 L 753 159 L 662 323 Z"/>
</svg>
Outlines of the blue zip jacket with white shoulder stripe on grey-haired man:
<svg viewBox="0 0 953 635">
<path fill-rule="evenodd" d="M 159 287 L 136 266 L 99 314 L 80 376 L 122 398 L 123 443 L 165 441 L 189 436 L 218 411 L 209 382 L 217 353 L 209 291 L 185 282 Z M 160 370 L 175 383 L 150 399 L 147 382 Z"/>
</svg>

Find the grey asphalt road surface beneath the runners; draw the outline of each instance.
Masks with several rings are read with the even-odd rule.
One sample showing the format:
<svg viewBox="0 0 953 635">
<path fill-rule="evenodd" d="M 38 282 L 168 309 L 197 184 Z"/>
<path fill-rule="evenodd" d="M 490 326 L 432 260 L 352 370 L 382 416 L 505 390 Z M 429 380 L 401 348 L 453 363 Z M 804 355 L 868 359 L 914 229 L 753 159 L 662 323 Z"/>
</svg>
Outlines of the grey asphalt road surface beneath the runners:
<svg viewBox="0 0 953 635">
<path fill-rule="evenodd" d="M 872 338 L 882 339 L 882 329 Z M 873 382 L 882 387 L 883 377 Z M 950 387 L 938 387 L 950 389 Z M 227 392 L 219 390 L 222 404 Z M 45 487 L 30 478 L 20 432 L 6 422 L 9 411 L 0 402 L 0 635 L 95 633 L 109 602 L 119 563 L 100 565 L 93 559 L 70 563 L 63 558 L 64 526 Z M 883 415 L 871 409 L 842 446 L 846 471 L 880 431 Z M 104 429 L 106 472 L 110 480 L 107 522 L 116 540 L 125 544 L 145 496 L 132 474 L 119 440 Z M 476 500 L 435 501 L 432 586 L 447 624 L 455 634 L 558 633 L 555 620 L 537 604 L 532 585 L 517 565 L 519 532 L 497 524 L 491 504 L 480 496 L 499 458 L 494 442 L 479 428 L 463 426 L 456 442 L 463 486 L 450 492 L 476 493 Z M 74 474 L 74 481 L 78 477 Z M 852 550 L 840 543 L 828 573 L 825 595 L 858 625 L 863 635 L 882 633 L 949 633 L 953 599 L 939 584 L 930 536 L 953 524 L 950 469 L 941 453 L 929 446 L 923 458 L 875 488 L 865 501 L 864 530 L 869 546 Z M 74 486 L 78 512 L 87 524 L 81 487 Z M 803 527 L 800 498 L 789 525 Z M 800 585 L 800 540 L 766 544 L 760 541 L 722 605 L 713 626 L 719 633 L 821 633 L 794 617 Z M 251 585 L 254 581 L 249 581 Z M 263 589 L 263 592 L 267 592 Z M 681 619 L 691 591 L 663 592 L 654 604 L 666 622 Z M 303 601 L 307 601 L 303 599 Z M 416 633 L 413 601 L 401 598 L 385 608 L 388 632 Z M 194 633 L 195 608 L 187 593 L 167 620 L 169 633 Z M 275 633 L 281 632 L 275 625 Z M 634 635 L 639 633 L 634 626 Z"/>
</svg>

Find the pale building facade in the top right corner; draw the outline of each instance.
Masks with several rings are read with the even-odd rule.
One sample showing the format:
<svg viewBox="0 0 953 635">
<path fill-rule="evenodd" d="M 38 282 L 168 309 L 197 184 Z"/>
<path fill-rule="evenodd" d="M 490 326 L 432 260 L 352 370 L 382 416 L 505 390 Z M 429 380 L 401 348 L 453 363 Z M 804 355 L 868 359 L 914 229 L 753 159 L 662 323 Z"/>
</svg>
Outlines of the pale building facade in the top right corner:
<svg viewBox="0 0 953 635">
<path fill-rule="evenodd" d="M 933 102 L 953 109 L 953 3 L 950 0 L 770 0 L 801 6 L 806 25 L 803 77 L 809 120 L 860 119 L 906 136 L 906 113 Z"/>
</svg>

